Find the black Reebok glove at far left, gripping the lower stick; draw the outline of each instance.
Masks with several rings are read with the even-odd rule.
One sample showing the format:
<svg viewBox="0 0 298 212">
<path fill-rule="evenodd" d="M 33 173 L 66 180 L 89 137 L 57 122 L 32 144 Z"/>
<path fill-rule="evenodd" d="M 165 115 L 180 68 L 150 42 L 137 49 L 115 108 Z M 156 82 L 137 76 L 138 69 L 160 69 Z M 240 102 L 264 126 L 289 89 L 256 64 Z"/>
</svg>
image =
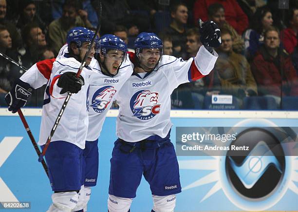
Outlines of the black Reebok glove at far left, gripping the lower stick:
<svg viewBox="0 0 298 212">
<path fill-rule="evenodd" d="M 21 107 L 25 106 L 33 90 L 34 89 L 28 83 L 17 79 L 13 89 L 4 97 L 8 105 L 8 110 L 12 113 L 16 113 Z"/>
</svg>

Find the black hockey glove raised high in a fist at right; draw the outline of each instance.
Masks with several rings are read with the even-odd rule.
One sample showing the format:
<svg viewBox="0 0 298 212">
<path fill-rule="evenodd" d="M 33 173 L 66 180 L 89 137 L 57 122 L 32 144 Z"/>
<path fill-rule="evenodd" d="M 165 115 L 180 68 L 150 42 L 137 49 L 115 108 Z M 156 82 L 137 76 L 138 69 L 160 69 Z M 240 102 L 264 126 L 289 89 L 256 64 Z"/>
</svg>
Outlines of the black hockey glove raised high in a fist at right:
<svg viewBox="0 0 298 212">
<path fill-rule="evenodd" d="M 201 34 L 201 43 L 206 47 L 217 48 L 222 44 L 221 30 L 218 25 L 212 20 L 203 22 L 201 19 L 198 20 L 199 31 Z"/>
</svg>

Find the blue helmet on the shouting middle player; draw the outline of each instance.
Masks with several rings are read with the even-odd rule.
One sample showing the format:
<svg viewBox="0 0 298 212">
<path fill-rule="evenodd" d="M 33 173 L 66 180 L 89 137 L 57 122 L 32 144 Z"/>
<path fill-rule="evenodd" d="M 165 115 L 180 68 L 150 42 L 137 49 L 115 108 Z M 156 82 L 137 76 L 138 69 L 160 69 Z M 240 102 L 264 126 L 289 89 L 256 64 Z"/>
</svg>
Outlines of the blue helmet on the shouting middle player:
<svg viewBox="0 0 298 212">
<path fill-rule="evenodd" d="M 103 54 L 106 54 L 108 52 L 108 49 L 115 49 L 124 53 L 126 53 L 127 51 L 126 43 L 119 37 L 112 34 L 106 34 L 100 37 L 99 45 Z"/>
</svg>

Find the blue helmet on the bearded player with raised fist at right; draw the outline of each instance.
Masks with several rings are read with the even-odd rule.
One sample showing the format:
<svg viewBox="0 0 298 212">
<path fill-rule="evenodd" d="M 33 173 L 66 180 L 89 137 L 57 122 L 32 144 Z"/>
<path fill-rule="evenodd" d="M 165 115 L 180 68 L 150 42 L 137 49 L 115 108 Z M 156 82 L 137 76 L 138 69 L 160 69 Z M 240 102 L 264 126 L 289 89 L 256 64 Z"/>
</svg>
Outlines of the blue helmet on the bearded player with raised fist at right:
<svg viewBox="0 0 298 212">
<path fill-rule="evenodd" d="M 136 54 L 141 52 L 141 49 L 163 49 L 163 41 L 154 33 L 142 32 L 134 41 L 134 49 Z"/>
</svg>

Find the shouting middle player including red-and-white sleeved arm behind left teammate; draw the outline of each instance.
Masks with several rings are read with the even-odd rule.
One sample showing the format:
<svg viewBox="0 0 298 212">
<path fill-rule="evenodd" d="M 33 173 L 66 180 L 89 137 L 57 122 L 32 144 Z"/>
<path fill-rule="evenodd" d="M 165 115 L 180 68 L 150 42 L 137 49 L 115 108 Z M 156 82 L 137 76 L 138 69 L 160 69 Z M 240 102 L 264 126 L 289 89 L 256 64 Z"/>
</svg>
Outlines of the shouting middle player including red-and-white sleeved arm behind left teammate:
<svg viewBox="0 0 298 212">
<path fill-rule="evenodd" d="M 83 185 L 79 192 L 78 203 L 73 211 L 84 208 L 87 211 L 87 203 L 91 195 L 91 187 L 96 185 L 98 174 L 98 137 L 103 122 L 117 91 L 132 74 L 129 60 L 126 60 L 126 44 L 123 40 L 113 35 L 104 35 L 99 39 L 100 54 L 93 59 L 93 74 L 90 77 L 89 88 L 89 127 L 83 151 Z M 68 55 L 67 45 L 59 51 L 58 58 Z M 51 74 L 52 60 L 43 60 L 32 66 L 20 79 L 32 85 L 35 89 L 46 84 Z M 97 62 L 98 61 L 98 62 Z M 47 87 L 49 89 L 49 86 Z M 25 102 L 14 99 L 14 104 L 9 110 L 16 112 Z M 59 127 L 59 126 L 58 126 Z"/>
</svg>

